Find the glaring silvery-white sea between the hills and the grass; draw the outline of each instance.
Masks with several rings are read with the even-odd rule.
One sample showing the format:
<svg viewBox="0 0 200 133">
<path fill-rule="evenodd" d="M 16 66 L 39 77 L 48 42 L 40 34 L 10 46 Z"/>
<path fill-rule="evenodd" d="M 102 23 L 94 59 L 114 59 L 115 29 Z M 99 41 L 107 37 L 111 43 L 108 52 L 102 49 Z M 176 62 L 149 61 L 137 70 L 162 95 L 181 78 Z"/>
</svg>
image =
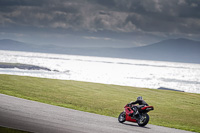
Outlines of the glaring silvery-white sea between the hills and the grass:
<svg viewBox="0 0 200 133">
<path fill-rule="evenodd" d="M 0 68 L 0 74 L 200 93 L 200 64 L 0 50 L 0 62 L 46 70 Z"/>
</svg>

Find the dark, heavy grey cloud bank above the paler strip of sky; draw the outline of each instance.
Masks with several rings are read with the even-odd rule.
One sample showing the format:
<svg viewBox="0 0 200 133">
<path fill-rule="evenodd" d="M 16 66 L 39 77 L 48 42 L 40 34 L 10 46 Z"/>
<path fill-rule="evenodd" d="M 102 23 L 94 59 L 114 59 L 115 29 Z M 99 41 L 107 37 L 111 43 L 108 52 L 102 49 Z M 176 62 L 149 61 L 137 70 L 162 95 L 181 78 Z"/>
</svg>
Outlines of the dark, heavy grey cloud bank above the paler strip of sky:
<svg viewBox="0 0 200 133">
<path fill-rule="evenodd" d="M 6 27 L 61 33 L 200 34 L 200 1 L 0 0 L 0 28 Z"/>
</svg>

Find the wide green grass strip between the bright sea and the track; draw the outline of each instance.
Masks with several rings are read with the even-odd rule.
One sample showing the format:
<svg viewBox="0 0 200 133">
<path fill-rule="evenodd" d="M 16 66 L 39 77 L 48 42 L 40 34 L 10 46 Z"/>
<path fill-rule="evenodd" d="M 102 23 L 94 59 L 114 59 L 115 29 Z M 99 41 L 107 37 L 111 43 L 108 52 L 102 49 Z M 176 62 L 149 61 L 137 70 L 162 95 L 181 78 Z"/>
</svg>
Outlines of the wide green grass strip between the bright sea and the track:
<svg viewBox="0 0 200 133">
<path fill-rule="evenodd" d="M 200 132 L 200 94 L 12 75 L 0 75 L 0 93 L 112 117 L 143 96 L 151 124 Z"/>
</svg>

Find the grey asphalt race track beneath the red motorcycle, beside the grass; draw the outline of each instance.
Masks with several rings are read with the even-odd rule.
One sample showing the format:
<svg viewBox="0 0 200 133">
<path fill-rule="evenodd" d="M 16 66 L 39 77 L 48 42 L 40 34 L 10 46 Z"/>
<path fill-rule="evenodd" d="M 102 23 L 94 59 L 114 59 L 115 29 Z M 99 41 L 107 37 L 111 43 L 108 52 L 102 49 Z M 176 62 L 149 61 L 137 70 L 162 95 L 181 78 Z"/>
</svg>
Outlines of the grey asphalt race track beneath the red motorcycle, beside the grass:
<svg viewBox="0 0 200 133">
<path fill-rule="evenodd" d="M 150 124 L 121 124 L 117 118 L 4 94 L 0 94 L 0 126 L 37 133 L 190 133 Z"/>
</svg>

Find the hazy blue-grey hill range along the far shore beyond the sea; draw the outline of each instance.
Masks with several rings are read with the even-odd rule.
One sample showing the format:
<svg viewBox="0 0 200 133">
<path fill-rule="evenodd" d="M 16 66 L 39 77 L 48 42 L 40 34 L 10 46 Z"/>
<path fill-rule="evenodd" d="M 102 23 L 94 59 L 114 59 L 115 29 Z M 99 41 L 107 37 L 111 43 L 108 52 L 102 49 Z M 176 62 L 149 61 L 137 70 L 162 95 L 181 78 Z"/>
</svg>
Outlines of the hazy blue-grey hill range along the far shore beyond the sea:
<svg viewBox="0 0 200 133">
<path fill-rule="evenodd" d="M 31 45 L 4 39 L 0 40 L 0 49 L 200 64 L 200 42 L 185 38 L 164 40 L 134 48 L 67 48 L 55 45 Z"/>
</svg>

